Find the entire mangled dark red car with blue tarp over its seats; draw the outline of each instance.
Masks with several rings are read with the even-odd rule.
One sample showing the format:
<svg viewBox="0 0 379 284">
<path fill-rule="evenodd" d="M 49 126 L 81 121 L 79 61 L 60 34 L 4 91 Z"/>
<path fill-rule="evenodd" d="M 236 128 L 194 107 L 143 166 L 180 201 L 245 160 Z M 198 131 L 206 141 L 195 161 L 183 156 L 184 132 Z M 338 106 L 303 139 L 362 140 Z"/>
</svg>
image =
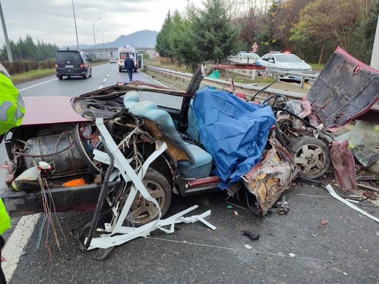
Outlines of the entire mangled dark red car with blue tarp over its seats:
<svg viewBox="0 0 379 284">
<path fill-rule="evenodd" d="M 111 162 L 101 156 L 110 154 L 96 124 L 102 118 L 136 172 L 157 149 L 166 147 L 143 172 L 143 185 L 160 210 L 155 201 L 137 194 L 125 221 L 148 224 L 167 211 L 173 193 L 189 196 L 233 187 L 235 182 L 256 196 L 255 211 L 265 215 L 299 170 L 303 177 L 317 178 L 329 167 L 333 157 L 328 146 L 339 145 L 331 143 L 334 139 L 321 126 L 338 128 L 367 111 L 379 89 L 377 71 L 341 49 L 303 101 L 275 95 L 258 104 L 234 92 L 207 88 L 198 92 L 198 99 L 212 96 L 218 102 L 201 103 L 196 94 L 204 75 L 199 68 L 185 92 L 136 81 L 73 99 L 25 98 L 23 124 L 5 138 L 10 163 L 1 197 L 8 212 L 44 212 L 46 202 L 53 203 L 56 212 L 89 211 L 105 200 L 106 211 L 117 214 L 133 184 L 105 174 Z M 339 76 L 343 80 L 336 79 Z M 215 111 L 217 116 L 210 115 Z M 229 133 L 233 135 L 217 136 Z M 337 156 L 333 164 L 347 161 L 354 166 L 348 153 Z"/>
</svg>

